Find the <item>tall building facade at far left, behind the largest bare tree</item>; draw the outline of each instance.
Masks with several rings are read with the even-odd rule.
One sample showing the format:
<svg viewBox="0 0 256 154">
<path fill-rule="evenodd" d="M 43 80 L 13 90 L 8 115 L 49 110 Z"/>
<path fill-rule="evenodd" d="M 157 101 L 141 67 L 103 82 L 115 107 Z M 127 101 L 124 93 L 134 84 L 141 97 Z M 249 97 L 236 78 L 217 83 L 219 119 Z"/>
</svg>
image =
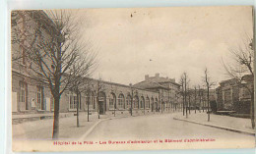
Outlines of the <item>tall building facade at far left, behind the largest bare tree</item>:
<svg viewBox="0 0 256 154">
<path fill-rule="evenodd" d="M 53 110 L 53 98 L 45 82 L 30 76 L 32 63 L 27 58 L 33 29 L 40 27 L 48 37 L 51 20 L 43 11 L 12 12 L 12 111 L 13 113 L 41 113 Z"/>
</svg>

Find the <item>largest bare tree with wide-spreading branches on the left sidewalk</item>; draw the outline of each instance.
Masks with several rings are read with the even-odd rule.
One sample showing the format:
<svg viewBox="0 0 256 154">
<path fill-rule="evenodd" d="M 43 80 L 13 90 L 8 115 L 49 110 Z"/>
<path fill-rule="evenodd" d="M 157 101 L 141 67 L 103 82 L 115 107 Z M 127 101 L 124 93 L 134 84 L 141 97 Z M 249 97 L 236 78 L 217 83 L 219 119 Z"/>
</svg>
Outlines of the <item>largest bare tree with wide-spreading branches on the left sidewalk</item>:
<svg viewBox="0 0 256 154">
<path fill-rule="evenodd" d="M 48 20 L 41 21 L 31 31 L 33 36 L 27 41 L 34 43 L 27 44 L 26 56 L 31 61 L 30 76 L 46 82 L 54 98 L 52 138 L 58 138 L 60 97 L 74 81 L 78 81 L 77 76 L 92 71 L 96 56 L 86 54 L 91 51 L 91 46 L 79 39 L 78 23 L 71 13 L 60 10 L 42 14 L 50 19 L 45 18 Z M 84 61 L 81 61 L 82 54 L 88 56 Z"/>
</svg>

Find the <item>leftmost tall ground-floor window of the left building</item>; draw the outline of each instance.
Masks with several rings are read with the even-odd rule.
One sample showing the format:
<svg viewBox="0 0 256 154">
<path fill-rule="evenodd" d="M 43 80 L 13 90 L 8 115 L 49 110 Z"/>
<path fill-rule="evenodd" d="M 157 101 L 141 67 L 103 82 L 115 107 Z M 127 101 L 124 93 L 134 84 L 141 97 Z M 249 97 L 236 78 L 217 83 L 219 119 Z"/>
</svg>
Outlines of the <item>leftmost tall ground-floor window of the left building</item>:
<svg viewBox="0 0 256 154">
<path fill-rule="evenodd" d="M 28 84 L 25 81 L 20 81 L 19 103 L 21 110 L 29 110 L 27 95 Z"/>
</svg>

